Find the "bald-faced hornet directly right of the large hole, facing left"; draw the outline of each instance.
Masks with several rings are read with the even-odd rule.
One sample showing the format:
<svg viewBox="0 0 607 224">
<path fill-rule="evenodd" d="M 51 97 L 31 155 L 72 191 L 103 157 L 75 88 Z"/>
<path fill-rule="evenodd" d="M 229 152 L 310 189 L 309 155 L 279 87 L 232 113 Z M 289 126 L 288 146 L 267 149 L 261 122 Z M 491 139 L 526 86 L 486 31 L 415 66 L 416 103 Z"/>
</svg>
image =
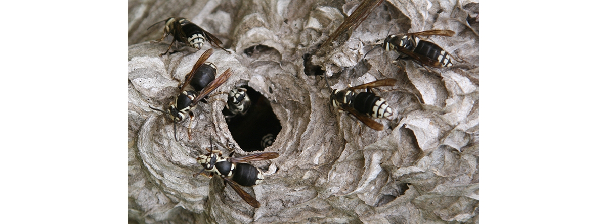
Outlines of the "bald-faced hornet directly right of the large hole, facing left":
<svg viewBox="0 0 607 224">
<path fill-rule="evenodd" d="M 326 76 L 325 76 L 326 79 Z M 393 86 L 396 79 L 381 79 L 367 84 L 357 85 L 345 90 L 331 91 L 331 105 L 339 110 L 345 110 L 370 128 L 381 131 L 384 126 L 370 117 L 383 118 L 392 116 L 392 108 L 384 98 L 371 92 L 371 88 Z M 328 81 L 327 81 L 328 85 Z M 366 89 L 366 92 L 356 93 L 354 90 Z"/>
</svg>

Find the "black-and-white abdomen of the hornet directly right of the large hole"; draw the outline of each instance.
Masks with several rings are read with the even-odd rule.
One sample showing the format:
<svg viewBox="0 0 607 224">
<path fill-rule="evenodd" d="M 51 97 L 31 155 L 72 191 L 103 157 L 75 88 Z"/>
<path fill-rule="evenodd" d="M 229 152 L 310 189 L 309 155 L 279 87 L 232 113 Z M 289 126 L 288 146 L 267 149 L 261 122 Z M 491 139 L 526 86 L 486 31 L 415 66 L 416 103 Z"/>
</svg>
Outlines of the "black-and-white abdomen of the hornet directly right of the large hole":
<svg viewBox="0 0 607 224">
<path fill-rule="evenodd" d="M 354 110 L 368 114 L 372 117 L 382 118 L 392 115 L 392 108 L 384 98 L 375 93 L 362 92 L 356 95 L 352 103 Z"/>
</svg>

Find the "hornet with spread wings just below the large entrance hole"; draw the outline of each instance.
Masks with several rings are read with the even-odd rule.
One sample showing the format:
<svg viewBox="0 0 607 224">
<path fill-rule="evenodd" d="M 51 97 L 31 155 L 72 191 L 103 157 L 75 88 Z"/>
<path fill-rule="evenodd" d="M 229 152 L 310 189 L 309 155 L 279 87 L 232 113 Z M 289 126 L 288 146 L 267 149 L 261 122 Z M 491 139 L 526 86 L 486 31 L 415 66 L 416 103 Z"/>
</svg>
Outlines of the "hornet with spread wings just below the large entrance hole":
<svg viewBox="0 0 607 224">
<path fill-rule="evenodd" d="M 222 153 L 220 151 L 209 150 L 209 153 L 196 158 L 196 161 L 202 165 L 204 169 L 198 173 L 195 173 L 194 176 L 203 174 L 211 178 L 214 174 L 217 174 L 218 176 L 222 177 L 225 183 L 232 186 L 234 191 L 236 191 L 236 193 L 242 197 L 246 203 L 254 208 L 259 208 L 259 202 L 257 199 L 251 196 L 251 194 L 246 193 L 246 191 L 240 188 L 240 186 L 258 185 L 263 180 L 263 174 L 259 168 L 246 162 L 276 159 L 278 156 L 278 153 L 264 152 L 232 158 L 222 157 Z M 205 171 L 211 174 L 205 174 Z"/>
</svg>

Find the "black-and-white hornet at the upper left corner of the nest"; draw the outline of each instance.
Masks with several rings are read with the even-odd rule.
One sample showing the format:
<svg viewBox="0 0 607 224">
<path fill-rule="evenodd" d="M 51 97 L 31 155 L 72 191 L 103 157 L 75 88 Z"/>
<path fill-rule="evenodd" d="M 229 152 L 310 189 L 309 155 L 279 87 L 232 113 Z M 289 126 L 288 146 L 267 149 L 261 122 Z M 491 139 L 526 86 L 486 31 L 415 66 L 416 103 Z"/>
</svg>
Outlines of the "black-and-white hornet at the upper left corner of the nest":
<svg viewBox="0 0 607 224">
<path fill-rule="evenodd" d="M 223 44 L 222 41 L 215 38 L 215 36 L 213 36 L 211 33 L 204 30 L 203 28 L 198 27 L 198 25 L 194 24 L 186 18 L 169 17 L 168 19 L 157 22 L 154 25 L 159 24 L 161 22 L 164 22 L 164 33 L 162 35 L 162 38 L 156 40 L 155 42 L 163 41 L 164 38 L 169 35 L 173 35 L 173 41 L 171 42 L 171 45 L 166 50 L 166 52 L 160 54 L 160 56 L 163 56 L 164 54 L 168 53 L 169 50 L 171 50 L 173 44 L 175 44 L 175 41 L 179 41 L 181 43 L 188 43 L 190 47 L 200 50 L 200 48 L 202 48 L 202 45 L 205 45 L 205 42 L 208 40 L 211 45 L 215 45 L 215 47 L 225 50 L 223 47 L 220 46 Z M 148 27 L 148 29 L 153 27 L 154 25 L 151 25 L 150 27 Z"/>
</svg>

